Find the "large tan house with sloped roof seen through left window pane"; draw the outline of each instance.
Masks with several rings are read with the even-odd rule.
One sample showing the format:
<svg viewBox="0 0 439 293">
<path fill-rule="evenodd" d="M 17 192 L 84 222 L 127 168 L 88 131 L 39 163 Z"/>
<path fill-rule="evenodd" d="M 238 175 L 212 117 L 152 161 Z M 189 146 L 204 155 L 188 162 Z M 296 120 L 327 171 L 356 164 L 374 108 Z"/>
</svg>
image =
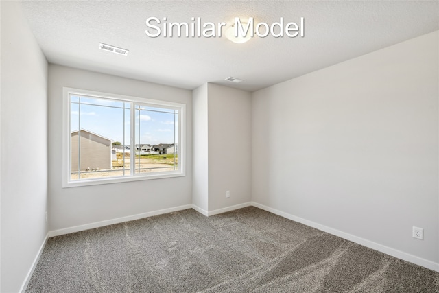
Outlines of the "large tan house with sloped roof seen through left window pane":
<svg viewBox="0 0 439 293">
<path fill-rule="evenodd" d="M 71 132 L 71 170 L 81 171 L 87 169 L 111 169 L 111 139 L 102 137 L 88 130 Z M 81 145 L 80 158 L 78 158 L 78 145 Z M 78 167 L 78 161 L 81 161 Z"/>
</svg>

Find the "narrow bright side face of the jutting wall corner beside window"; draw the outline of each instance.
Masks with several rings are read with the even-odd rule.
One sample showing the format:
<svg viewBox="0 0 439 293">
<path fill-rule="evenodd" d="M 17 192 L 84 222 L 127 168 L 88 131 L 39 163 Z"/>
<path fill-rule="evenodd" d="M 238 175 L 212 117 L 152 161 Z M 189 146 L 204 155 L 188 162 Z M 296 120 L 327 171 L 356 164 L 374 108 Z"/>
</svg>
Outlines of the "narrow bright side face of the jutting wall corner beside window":
<svg viewBox="0 0 439 293">
<path fill-rule="evenodd" d="M 209 196 L 207 84 L 193 90 L 193 184 L 192 203 L 206 214 Z"/>
</svg>

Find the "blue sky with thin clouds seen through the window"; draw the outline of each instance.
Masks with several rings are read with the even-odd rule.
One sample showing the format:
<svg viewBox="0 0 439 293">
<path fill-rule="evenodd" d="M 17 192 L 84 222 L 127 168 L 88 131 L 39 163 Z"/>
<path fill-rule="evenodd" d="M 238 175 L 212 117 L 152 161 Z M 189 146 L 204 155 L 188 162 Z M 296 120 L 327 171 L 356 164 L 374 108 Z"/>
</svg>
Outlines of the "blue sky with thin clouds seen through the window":
<svg viewBox="0 0 439 293">
<path fill-rule="evenodd" d="M 71 97 L 71 131 L 82 128 L 123 143 L 125 129 L 125 144 L 130 144 L 130 103 L 90 97 L 81 97 L 81 105 L 78 101 L 78 97 Z M 135 113 L 137 144 L 174 143 L 178 120 L 174 110 L 138 106 Z"/>
</svg>

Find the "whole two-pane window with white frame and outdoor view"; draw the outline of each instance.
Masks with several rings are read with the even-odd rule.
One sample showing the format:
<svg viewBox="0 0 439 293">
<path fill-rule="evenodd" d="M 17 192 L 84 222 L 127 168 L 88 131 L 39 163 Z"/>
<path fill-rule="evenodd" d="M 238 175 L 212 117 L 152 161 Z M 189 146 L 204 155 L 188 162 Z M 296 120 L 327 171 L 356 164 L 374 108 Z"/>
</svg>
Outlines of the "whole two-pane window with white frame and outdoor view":
<svg viewBox="0 0 439 293">
<path fill-rule="evenodd" d="M 63 187 L 185 175 L 185 105 L 64 88 Z"/>
</svg>

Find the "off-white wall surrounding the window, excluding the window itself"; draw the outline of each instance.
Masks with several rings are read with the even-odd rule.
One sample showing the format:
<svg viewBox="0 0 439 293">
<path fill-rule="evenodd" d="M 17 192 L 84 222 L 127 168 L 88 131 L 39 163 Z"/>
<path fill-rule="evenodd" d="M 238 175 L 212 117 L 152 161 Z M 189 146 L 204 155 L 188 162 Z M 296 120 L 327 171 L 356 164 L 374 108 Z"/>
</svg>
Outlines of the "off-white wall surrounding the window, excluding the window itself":
<svg viewBox="0 0 439 293">
<path fill-rule="evenodd" d="M 62 188 L 62 87 L 186 104 L 192 92 L 59 65 L 49 65 L 49 228 L 51 231 L 191 204 L 192 121 L 187 118 L 186 176 Z"/>
</svg>

